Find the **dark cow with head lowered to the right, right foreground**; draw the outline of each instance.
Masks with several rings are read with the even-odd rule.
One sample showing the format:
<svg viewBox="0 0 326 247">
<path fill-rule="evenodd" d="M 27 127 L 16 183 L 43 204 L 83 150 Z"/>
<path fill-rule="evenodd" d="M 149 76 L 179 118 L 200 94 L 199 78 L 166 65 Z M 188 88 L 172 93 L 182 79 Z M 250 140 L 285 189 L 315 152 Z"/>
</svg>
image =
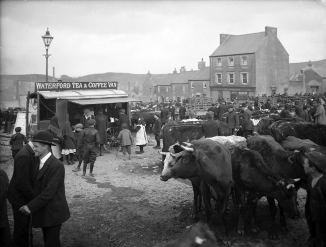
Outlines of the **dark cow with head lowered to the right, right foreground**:
<svg viewBox="0 0 326 247">
<path fill-rule="evenodd" d="M 232 174 L 234 180 L 235 203 L 239 209 L 238 234 L 244 234 L 244 210 L 247 199 L 250 214 L 251 227 L 253 232 L 258 232 L 255 209 L 256 203 L 262 196 L 277 199 L 282 208 L 290 217 L 299 214 L 296 206 L 296 193 L 294 187 L 295 180 L 284 179 L 275 173 L 264 161 L 263 157 L 254 150 L 231 149 Z M 248 192 L 245 198 L 245 192 Z M 270 228 L 268 235 L 274 235 L 275 226 L 273 216 L 270 218 Z"/>
</svg>

